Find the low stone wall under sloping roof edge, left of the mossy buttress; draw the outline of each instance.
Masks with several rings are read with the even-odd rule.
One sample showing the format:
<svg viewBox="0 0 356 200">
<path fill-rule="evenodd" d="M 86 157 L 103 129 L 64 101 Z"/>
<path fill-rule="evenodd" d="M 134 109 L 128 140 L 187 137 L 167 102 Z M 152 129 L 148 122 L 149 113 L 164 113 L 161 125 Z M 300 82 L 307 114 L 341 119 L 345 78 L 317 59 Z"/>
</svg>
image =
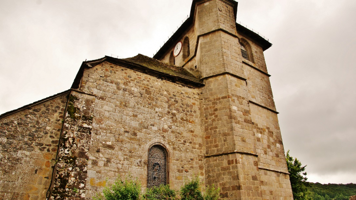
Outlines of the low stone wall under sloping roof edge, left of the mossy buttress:
<svg viewBox="0 0 356 200">
<path fill-rule="evenodd" d="M 0 119 L 0 199 L 46 199 L 67 95 Z"/>
</svg>

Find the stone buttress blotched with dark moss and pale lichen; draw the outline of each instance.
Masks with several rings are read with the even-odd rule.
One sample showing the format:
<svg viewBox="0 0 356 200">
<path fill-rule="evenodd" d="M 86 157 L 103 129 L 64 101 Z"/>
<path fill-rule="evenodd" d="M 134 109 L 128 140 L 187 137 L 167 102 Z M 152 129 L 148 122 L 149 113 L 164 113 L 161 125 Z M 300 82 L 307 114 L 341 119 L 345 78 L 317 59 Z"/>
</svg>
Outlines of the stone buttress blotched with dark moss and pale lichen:
<svg viewBox="0 0 356 200">
<path fill-rule="evenodd" d="M 95 96 L 71 91 L 60 139 L 52 200 L 85 198 Z"/>
</svg>

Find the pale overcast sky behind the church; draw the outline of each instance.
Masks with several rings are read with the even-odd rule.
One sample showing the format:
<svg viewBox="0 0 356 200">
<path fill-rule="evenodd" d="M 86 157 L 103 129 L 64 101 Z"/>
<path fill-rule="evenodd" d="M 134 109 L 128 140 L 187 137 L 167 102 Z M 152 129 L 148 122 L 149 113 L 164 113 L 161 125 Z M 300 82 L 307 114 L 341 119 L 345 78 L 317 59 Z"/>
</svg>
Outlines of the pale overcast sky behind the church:
<svg viewBox="0 0 356 200">
<path fill-rule="evenodd" d="M 84 60 L 152 57 L 191 0 L 0 0 L 0 114 L 67 90 Z M 284 149 L 311 182 L 356 183 L 356 1 L 239 0 L 265 59 Z"/>
</svg>

